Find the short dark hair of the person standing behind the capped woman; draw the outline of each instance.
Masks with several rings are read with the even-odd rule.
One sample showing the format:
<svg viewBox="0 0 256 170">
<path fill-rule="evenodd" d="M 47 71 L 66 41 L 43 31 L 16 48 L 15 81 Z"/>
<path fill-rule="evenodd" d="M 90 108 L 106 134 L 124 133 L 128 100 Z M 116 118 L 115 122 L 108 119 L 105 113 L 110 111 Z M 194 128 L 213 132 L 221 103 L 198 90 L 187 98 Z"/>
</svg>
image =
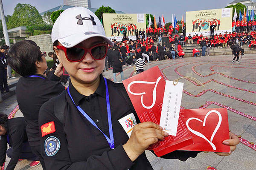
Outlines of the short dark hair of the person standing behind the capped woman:
<svg viewBox="0 0 256 170">
<path fill-rule="evenodd" d="M 32 40 L 24 40 L 12 45 L 8 64 L 21 76 L 29 76 L 37 71 L 35 62 L 42 61 L 40 47 Z"/>
</svg>

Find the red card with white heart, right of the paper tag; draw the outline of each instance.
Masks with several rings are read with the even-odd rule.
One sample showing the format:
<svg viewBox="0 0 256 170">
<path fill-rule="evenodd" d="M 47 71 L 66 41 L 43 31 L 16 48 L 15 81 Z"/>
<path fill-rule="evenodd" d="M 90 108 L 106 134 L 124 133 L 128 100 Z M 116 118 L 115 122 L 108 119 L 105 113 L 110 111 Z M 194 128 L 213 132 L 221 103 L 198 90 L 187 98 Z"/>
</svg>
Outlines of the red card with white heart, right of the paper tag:
<svg viewBox="0 0 256 170">
<path fill-rule="evenodd" d="M 230 152 L 230 146 L 222 144 L 229 139 L 227 109 L 183 109 L 180 116 L 194 141 L 180 150 Z"/>
</svg>

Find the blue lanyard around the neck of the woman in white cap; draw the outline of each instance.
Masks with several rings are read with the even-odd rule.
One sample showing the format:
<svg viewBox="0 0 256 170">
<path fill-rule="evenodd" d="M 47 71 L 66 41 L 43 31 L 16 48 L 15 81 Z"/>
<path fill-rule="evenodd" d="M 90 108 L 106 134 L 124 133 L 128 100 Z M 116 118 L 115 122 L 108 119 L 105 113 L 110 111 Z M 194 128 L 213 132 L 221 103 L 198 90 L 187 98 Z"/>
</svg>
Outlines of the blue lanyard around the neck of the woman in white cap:
<svg viewBox="0 0 256 170">
<path fill-rule="evenodd" d="M 108 94 L 108 83 L 107 80 L 105 79 L 105 77 L 103 77 L 105 80 L 105 86 L 106 86 L 106 100 L 107 100 L 107 111 L 108 111 L 108 129 L 109 129 L 109 136 L 110 139 L 108 138 L 108 136 L 102 132 L 102 130 L 99 129 L 99 127 L 95 124 L 95 122 L 93 122 L 93 120 L 90 118 L 90 116 L 87 115 L 87 113 L 85 113 L 85 111 L 80 107 L 77 106 L 70 94 L 69 91 L 69 87 L 67 88 L 67 93 L 70 96 L 71 100 L 73 101 L 74 105 L 76 106 L 76 108 L 82 113 L 82 115 L 93 125 L 95 126 L 97 129 L 99 129 L 99 131 L 101 131 L 103 133 L 103 135 L 105 136 L 105 138 L 108 141 L 108 144 L 110 146 L 111 149 L 115 148 L 115 144 L 114 144 L 114 137 L 113 137 L 113 128 L 112 128 L 112 122 L 111 122 L 111 110 L 110 110 L 110 102 L 109 102 L 109 94 Z"/>
</svg>

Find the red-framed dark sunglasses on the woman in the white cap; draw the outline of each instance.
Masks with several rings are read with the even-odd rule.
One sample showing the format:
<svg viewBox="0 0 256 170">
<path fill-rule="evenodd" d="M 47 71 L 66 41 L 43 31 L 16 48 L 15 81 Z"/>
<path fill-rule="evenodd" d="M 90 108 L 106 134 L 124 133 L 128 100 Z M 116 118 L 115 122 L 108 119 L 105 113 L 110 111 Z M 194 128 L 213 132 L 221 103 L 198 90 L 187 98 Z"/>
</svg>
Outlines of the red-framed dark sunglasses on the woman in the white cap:
<svg viewBox="0 0 256 170">
<path fill-rule="evenodd" d="M 108 44 L 97 44 L 92 46 L 91 48 L 84 48 L 79 45 L 71 48 L 66 48 L 62 45 L 57 45 L 57 48 L 65 52 L 67 60 L 69 60 L 70 62 L 79 62 L 84 59 L 87 52 L 89 52 L 91 57 L 93 57 L 93 59 L 95 60 L 104 59 L 107 55 Z"/>
</svg>

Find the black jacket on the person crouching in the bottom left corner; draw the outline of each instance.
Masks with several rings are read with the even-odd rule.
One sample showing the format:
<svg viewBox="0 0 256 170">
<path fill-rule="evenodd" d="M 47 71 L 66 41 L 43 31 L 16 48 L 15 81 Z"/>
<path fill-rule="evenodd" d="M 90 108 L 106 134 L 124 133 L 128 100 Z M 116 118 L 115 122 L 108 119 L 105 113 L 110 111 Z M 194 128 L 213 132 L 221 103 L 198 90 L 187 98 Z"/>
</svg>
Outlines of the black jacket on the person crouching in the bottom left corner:
<svg viewBox="0 0 256 170">
<path fill-rule="evenodd" d="M 9 145 L 13 147 L 12 159 L 9 162 L 6 170 L 14 170 L 20 157 L 23 142 L 28 141 L 26 134 L 26 126 L 23 117 L 8 119 L 8 130 L 3 136 L 0 136 L 0 166 L 6 159 L 7 150 L 7 135 L 9 135 Z"/>
</svg>

